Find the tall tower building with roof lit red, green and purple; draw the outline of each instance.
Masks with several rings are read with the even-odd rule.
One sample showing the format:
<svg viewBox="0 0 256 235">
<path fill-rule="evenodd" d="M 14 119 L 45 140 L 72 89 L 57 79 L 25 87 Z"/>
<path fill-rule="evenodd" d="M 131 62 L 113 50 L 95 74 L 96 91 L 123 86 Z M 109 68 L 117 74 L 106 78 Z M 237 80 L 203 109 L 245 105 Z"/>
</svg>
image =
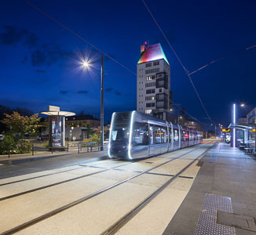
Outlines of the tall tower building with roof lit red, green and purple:
<svg viewBox="0 0 256 235">
<path fill-rule="evenodd" d="M 160 43 L 141 45 L 137 63 L 137 111 L 170 121 L 170 64 Z"/>
</svg>

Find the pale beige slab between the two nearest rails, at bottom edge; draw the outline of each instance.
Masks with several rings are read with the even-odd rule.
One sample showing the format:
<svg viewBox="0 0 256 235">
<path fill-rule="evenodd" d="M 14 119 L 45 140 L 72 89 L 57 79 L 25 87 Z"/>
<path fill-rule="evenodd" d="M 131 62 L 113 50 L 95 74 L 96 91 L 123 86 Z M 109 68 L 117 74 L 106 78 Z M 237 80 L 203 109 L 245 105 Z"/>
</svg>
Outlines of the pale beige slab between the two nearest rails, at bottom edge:
<svg viewBox="0 0 256 235">
<path fill-rule="evenodd" d="M 101 193 L 18 234 L 101 234 L 156 188 L 125 183 Z"/>
</svg>

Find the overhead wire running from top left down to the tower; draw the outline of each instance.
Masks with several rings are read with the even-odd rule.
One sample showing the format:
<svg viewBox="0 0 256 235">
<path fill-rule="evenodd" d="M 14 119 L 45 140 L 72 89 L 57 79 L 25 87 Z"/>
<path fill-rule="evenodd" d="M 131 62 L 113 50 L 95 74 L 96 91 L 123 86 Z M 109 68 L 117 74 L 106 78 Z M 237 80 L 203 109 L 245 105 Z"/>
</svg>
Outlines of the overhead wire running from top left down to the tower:
<svg viewBox="0 0 256 235">
<path fill-rule="evenodd" d="M 93 49 L 96 49 L 98 52 L 101 52 L 102 54 L 104 54 L 104 56 L 107 56 L 110 60 L 114 61 L 115 63 L 119 64 L 119 66 L 123 67 L 124 69 L 126 69 L 126 71 L 129 71 L 131 74 L 136 76 L 136 73 L 134 73 L 133 71 L 131 71 L 128 67 L 126 67 L 125 65 L 123 65 L 123 63 L 120 63 L 118 60 L 115 60 L 112 56 L 109 56 L 107 53 L 103 52 L 101 49 L 97 48 L 96 45 L 93 45 L 91 42 L 89 42 L 88 40 L 86 40 L 85 38 L 82 38 L 81 35 L 79 35 L 78 33 L 76 33 L 75 31 L 72 31 L 69 27 L 65 26 L 64 24 L 60 23 L 59 20 L 53 18 L 53 16 L 50 16 L 48 13 L 44 12 L 42 9 L 39 9 L 38 6 L 34 5 L 33 3 L 25 0 L 25 2 L 28 5 L 31 5 L 34 9 L 38 10 L 38 12 L 44 14 L 45 16 L 47 16 L 50 20 L 53 20 L 56 24 L 60 25 L 60 27 L 63 27 L 65 30 L 69 31 L 71 34 L 74 34 L 75 37 L 81 39 L 83 42 L 86 42 L 86 44 L 90 45 L 91 47 L 93 47 Z"/>
</svg>

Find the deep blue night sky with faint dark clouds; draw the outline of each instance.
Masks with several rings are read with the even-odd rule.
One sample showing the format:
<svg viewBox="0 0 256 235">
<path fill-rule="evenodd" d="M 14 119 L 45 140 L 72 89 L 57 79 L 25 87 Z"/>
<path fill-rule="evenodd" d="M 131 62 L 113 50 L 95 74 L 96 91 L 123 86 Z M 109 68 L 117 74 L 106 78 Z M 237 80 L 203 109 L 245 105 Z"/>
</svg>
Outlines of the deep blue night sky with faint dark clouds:
<svg viewBox="0 0 256 235">
<path fill-rule="evenodd" d="M 174 103 L 209 123 L 188 77 L 163 35 L 137 1 L 38 1 L 50 16 L 112 56 L 136 74 L 140 46 L 161 43 L 170 63 Z M 233 102 L 245 102 L 243 116 L 256 103 L 255 1 L 145 1 L 188 71 L 225 57 L 192 80 L 215 123 L 229 125 Z M 100 64 L 79 69 L 79 57 L 101 53 L 39 13 L 25 1 L 1 1 L 0 104 L 35 112 L 48 105 L 100 114 Z M 136 110 L 136 75 L 104 56 L 104 112 Z"/>
</svg>

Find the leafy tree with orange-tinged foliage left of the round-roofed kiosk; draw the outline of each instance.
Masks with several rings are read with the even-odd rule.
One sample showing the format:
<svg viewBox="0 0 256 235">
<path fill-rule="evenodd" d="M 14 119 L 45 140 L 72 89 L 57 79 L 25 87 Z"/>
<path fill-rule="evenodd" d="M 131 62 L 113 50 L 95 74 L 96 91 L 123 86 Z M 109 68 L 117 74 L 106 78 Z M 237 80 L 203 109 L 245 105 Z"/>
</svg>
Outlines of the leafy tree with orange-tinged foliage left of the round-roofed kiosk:
<svg viewBox="0 0 256 235">
<path fill-rule="evenodd" d="M 9 128 L 10 132 L 20 133 L 21 136 L 24 136 L 25 133 L 31 134 L 36 132 L 38 121 L 40 121 L 38 114 L 24 117 L 16 111 L 13 111 L 13 114 L 5 114 L 2 123 Z"/>
</svg>

